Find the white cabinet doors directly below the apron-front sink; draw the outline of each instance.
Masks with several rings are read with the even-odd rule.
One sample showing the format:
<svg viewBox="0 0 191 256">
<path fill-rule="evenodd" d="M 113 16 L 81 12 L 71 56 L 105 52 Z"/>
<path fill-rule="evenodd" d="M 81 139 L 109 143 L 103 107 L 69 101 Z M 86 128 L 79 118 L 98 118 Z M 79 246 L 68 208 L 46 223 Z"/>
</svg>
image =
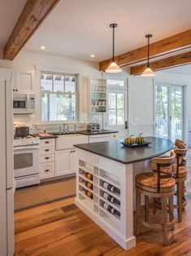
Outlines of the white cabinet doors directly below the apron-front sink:
<svg viewBox="0 0 191 256">
<path fill-rule="evenodd" d="M 76 173 L 76 149 L 55 151 L 55 176 Z"/>
</svg>

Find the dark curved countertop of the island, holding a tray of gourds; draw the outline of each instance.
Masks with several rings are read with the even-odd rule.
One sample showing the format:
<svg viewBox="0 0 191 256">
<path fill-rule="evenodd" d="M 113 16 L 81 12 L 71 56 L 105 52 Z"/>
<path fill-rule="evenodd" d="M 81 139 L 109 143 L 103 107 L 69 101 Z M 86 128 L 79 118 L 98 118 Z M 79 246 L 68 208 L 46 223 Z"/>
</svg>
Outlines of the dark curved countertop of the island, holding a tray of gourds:
<svg viewBox="0 0 191 256">
<path fill-rule="evenodd" d="M 150 145 L 144 148 L 127 148 L 124 147 L 122 140 L 76 144 L 76 148 L 93 152 L 102 157 L 119 161 L 123 164 L 130 164 L 137 161 L 145 161 L 153 157 L 158 157 L 168 152 L 173 147 L 170 139 L 161 139 L 155 137 L 145 137 L 145 141 L 149 141 Z"/>
</svg>

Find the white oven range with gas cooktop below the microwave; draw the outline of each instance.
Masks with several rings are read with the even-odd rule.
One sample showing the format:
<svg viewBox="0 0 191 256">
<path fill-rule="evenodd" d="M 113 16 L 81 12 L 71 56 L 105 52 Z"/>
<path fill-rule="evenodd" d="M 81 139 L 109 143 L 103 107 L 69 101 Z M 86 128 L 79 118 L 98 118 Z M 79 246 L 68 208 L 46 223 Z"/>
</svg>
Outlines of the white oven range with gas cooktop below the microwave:
<svg viewBox="0 0 191 256">
<path fill-rule="evenodd" d="M 16 188 L 23 188 L 40 183 L 39 168 L 40 139 L 33 135 L 13 140 L 14 176 Z"/>
</svg>

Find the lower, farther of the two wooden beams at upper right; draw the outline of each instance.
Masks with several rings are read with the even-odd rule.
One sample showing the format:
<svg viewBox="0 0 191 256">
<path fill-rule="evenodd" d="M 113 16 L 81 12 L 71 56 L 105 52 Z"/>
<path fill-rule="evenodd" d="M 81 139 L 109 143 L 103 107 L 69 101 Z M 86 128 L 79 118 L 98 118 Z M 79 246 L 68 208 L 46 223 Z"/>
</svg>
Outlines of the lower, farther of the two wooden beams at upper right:
<svg viewBox="0 0 191 256">
<path fill-rule="evenodd" d="M 153 71 L 162 70 L 165 68 L 176 67 L 184 64 L 191 63 L 191 51 L 185 52 L 180 55 L 171 56 L 162 60 L 156 60 L 150 63 L 150 68 Z M 146 64 L 141 64 L 131 68 L 131 75 L 140 75 L 145 70 Z"/>
</svg>

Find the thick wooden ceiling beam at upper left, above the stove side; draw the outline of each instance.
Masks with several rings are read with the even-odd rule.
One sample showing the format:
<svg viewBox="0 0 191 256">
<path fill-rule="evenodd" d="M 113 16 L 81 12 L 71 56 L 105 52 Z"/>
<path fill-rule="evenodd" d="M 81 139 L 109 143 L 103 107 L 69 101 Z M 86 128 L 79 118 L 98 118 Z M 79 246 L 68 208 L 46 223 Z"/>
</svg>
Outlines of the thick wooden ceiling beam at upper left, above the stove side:
<svg viewBox="0 0 191 256">
<path fill-rule="evenodd" d="M 28 0 L 3 50 L 3 59 L 13 60 L 59 0 Z"/>
</svg>

